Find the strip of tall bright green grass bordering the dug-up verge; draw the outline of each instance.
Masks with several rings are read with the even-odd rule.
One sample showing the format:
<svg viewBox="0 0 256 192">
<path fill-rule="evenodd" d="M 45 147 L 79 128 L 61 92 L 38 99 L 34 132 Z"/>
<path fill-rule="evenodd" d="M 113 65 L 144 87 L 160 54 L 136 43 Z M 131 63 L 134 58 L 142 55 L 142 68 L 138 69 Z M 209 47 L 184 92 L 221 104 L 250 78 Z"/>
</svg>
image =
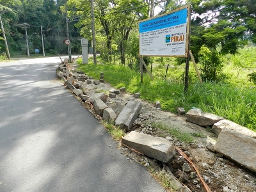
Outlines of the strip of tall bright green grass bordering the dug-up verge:
<svg viewBox="0 0 256 192">
<path fill-rule="evenodd" d="M 184 94 L 184 83 L 154 76 L 152 81 L 148 74 L 143 74 L 140 82 L 140 72 L 123 65 L 79 65 L 88 76 L 100 77 L 112 86 L 125 86 L 129 93 L 141 93 L 141 99 L 148 102 L 159 100 L 163 110 L 177 113 L 178 107 L 188 111 L 192 107 L 202 111 L 223 116 L 256 132 L 256 92 L 250 86 L 239 84 L 203 84 L 190 83 L 188 93 Z"/>
</svg>

